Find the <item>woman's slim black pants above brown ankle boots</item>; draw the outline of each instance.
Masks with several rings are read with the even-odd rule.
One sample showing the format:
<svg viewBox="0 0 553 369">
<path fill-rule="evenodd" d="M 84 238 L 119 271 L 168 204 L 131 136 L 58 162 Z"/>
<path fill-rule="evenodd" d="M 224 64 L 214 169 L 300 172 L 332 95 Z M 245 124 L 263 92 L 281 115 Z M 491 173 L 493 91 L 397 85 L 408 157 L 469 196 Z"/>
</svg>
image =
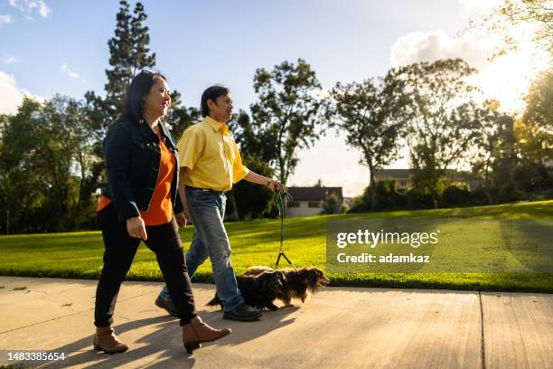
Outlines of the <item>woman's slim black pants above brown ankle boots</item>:
<svg viewBox="0 0 553 369">
<path fill-rule="evenodd" d="M 94 325 L 109 326 L 113 323 L 119 288 L 135 258 L 140 240 L 128 234 L 125 222 L 118 222 L 113 203 L 98 213 L 98 222 L 106 249 L 104 268 L 96 289 Z M 145 228 L 148 235 L 145 244 L 155 252 L 173 305 L 181 318 L 181 326 L 188 324 L 196 317 L 196 308 L 177 223 L 173 218 L 166 224 L 148 225 Z"/>
</svg>

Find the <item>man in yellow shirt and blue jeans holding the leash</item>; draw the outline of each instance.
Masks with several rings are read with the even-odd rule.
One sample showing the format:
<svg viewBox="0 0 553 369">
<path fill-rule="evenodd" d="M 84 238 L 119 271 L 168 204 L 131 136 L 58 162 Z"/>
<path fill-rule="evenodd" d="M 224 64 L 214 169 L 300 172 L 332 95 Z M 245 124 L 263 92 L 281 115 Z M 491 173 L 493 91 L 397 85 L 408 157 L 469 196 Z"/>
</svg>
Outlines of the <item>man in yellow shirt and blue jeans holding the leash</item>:
<svg viewBox="0 0 553 369">
<path fill-rule="evenodd" d="M 261 317 L 261 311 L 244 303 L 230 265 L 230 242 L 223 224 L 225 192 L 242 179 L 267 185 L 271 191 L 284 186 L 242 165 L 239 149 L 227 126 L 232 109 L 229 89 L 211 86 L 203 91 L 202 116 L 205 119 L 186 129 L 177 144 L 181 163 L 179 194 L 186 218 L 195 226 L 190 250 L 186 253 L 189 275 L 192 277 L 209 256 L 217 296 L 223 303 L 223 317 L 249 321 Z M 174 307 L 166 287 L 155 305 L 173 315 Z"/>
</svg>

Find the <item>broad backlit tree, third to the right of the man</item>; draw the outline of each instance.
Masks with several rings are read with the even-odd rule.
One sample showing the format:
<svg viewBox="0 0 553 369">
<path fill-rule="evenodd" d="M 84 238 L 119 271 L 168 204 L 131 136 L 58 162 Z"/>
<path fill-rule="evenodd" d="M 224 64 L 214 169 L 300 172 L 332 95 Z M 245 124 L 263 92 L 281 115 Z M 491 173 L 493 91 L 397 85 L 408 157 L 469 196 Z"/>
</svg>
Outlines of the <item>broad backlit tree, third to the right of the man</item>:
<svg viewBox="0 0 553 369">
<path fill-rule="evenodd" d="M 461 59 L 418 62 L 398 69 L 410 119 L 408 147 L 413 185 L 429 194 L 435 207 L 445 189 L 447 170 L 461 164 L 479 135 L 481 107 L 467 78 L 476 70 Z"/>
</svg>

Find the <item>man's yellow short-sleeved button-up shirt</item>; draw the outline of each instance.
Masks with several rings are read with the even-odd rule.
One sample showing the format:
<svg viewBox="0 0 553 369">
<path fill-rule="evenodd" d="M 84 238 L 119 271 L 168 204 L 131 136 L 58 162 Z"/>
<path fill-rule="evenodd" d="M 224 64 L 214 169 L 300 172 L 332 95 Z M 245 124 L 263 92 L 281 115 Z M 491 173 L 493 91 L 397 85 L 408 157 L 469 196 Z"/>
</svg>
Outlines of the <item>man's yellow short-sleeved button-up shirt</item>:
<svg viewBox="0 0 553 369">
<path fill-rule="evenodd" d="M 180 166 L 188 168 L 184 185 L 229 191 L 249 173 L 229 127 L 211 117 L 186 129 L 177 148 Z"/>
</svg>

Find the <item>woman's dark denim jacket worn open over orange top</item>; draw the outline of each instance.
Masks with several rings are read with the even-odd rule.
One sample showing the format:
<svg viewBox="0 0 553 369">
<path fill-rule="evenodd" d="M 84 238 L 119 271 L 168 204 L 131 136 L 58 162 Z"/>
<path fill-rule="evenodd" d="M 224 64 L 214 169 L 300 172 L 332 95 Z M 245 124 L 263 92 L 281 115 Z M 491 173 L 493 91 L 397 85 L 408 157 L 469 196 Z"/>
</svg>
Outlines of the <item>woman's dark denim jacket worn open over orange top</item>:
<svg viewBox="0 0 553 369">
<path fill-rule="evenodd" d="M 159 125 L 165 146 L 176 159 L 171 182 L 173 212 L 183 212 L 178 195 L 179 156 L 173 136 Z M 108 172 L 108 185 L 102 191 L 114 203 L 120 221 L 140 216 L 152 201 L 159 165 L 161 147 L 159 137 L 147 123 L 122 120 L 108 130 L 104 138 L 104 156 Z"/>
</svg>

